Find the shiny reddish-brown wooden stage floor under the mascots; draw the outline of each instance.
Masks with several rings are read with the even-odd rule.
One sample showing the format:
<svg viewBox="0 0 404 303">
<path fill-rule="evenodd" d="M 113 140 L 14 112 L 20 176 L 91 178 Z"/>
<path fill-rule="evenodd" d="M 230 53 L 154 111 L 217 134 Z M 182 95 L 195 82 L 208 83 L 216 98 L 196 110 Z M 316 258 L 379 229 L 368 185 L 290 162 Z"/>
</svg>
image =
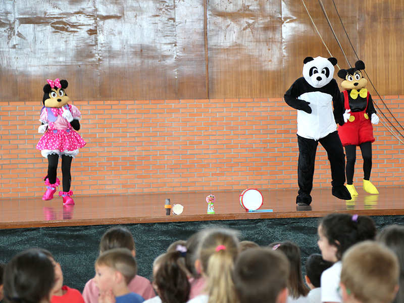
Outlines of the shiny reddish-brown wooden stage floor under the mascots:
<svg viewBox="0 0 404 303">
<path fill-rule="evenodd" d="M 295 204 L 297 189 L 262 190 L 261 209 L 273 212 L 246 213 L 240 205 L 242 191 L 170 192 L 132 195 L 73 196 L 74 206 L 63 206 L 62 198 L 0 199 L 0 228 L 78 226 L 150 222 L 244 220 L 322 217 L 331 212 L 360 215 L 404 215 L 404 187 L 379 187 L 370 195 L 357 188 L 359 196 L 345 201 L 331 195 L 331 188 L 313 189 L 310 207 Z M 206 196 L 214 194 L 215 214 L 208 215 Z M 165 200 L 184 207 L 181 215 L 166 216 Z"/>
</svg>

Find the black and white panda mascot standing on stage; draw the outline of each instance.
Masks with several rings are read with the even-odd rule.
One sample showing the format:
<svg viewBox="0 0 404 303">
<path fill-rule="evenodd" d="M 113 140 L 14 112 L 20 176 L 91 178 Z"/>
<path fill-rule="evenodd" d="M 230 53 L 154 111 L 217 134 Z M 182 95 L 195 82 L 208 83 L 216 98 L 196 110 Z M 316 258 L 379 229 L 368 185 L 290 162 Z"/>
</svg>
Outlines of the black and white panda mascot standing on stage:
<svg viewBox="0 0 404 303">
<path fill-rule="evenodd" d="M 337 59 L 307 57 L 303 62 L 303 77 L 294 81 L 284 95 L 286 104 L 297 110 L 299 190 L 296 204 L 304 206 L 312 202 L 310 193 L 319 142 L 330 161 L 332 194 L 350 200 L 351 195 L 344 186 L 345 155 L 336 125 L 344 123 L 343 103 L 337 81 L 333 79 Z"/>
</svg>

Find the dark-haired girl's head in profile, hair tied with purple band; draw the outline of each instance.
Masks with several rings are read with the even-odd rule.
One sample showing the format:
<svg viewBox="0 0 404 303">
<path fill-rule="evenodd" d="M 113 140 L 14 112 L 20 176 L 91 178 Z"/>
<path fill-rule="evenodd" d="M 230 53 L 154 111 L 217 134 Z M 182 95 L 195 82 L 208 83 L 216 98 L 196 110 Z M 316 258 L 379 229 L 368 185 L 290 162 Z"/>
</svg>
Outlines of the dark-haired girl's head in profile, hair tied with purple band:
<svg viewBox="0 0 404 303">
<path fill-rule="evenodd" d="M 349 214 L 330 214 L 319 225 L 318 245 L 323 259 L 330 262 L 341 260 L 344 252 L 352 245 L 373 240 L 376 226 L 372 218 Z"/>
</svg>

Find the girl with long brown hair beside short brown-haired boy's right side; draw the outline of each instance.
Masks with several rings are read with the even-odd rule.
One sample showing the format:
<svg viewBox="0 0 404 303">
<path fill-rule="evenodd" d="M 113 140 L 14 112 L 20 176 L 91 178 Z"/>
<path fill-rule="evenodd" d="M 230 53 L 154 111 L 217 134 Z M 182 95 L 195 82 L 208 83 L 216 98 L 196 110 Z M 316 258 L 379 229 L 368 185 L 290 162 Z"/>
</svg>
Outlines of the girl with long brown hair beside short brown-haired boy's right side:
<svg viewBox="0 0 404 303">
<path fill-rule="evenodd" d="M 282 251 L 290 263 L 290 273 L 288 279 L 287 289 L 289 291 L 288 303 L 298 302 L 306 303 L 309 302 L 309 288 L 305 285 L 303 281 L 303 276 L 301 273 L 301 260 L 300 260 L 300 248 L 296 243 L 290 241 L 284 242 L 274 242 L 269 244 L 273 250 Z"/>
</svg>

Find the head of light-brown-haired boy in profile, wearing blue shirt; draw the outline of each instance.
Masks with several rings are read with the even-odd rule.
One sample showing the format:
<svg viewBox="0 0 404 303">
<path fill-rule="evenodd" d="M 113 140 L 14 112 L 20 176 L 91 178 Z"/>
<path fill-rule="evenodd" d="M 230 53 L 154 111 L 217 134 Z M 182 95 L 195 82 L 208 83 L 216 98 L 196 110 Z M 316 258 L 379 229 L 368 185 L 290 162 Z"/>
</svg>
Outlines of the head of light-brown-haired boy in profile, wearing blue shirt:
<svg viewBox="0 0 404 303">
<path fill-rule="evenodd" d="M 114 248 L 101 254 L 95 261 L 94 282 L 99 292 L 114 291 L 117 285 L 126 286 L 137 273 L 136 260 L 127 248 Z"/>
</svg>

